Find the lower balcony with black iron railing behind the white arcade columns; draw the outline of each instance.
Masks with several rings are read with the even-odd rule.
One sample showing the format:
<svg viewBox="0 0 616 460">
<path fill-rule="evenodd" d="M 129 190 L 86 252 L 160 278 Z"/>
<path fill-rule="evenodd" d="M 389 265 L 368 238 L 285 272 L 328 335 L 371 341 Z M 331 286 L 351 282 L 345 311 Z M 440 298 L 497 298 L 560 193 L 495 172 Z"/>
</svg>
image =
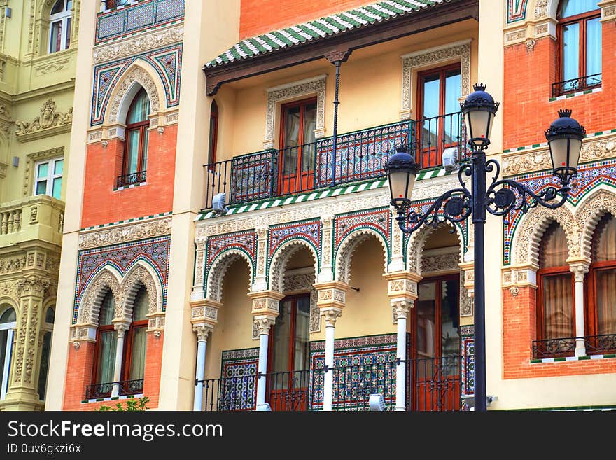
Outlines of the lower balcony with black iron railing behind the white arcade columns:
<svg viewBox="0 0 616 460">
<path fill-rule="evenodd" d="M 333 374 L 332 410 L 367 411 L 372 394 L 381 394 L 385 410 L 395 409 L 395 381 L 402 361 L 349 365 L 346 358 L 327 372 Z M 461 373 L 472 368 L 472 356 L 420 358 L 406 361 L 405 407 L 412 411 L 456 411 L 463 407 Z M 466 365 L 463 366 L 463 363 Z M 345 364 L 345 365 L 342 365 Z M 266 402 L 272 411 L 323 410 L 325 368 L 270 372 L 265 375 Z M 255 410 L 258 375 L 203 381 L 204 410 Z"/>
</svg>

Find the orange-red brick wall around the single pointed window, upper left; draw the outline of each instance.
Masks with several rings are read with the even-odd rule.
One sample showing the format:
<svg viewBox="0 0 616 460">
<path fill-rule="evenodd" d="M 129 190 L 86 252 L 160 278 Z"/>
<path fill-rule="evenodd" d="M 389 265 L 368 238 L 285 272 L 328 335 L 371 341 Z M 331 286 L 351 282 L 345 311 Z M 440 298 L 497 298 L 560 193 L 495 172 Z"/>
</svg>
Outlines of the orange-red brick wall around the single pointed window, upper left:
<svg viewBox="0 0 616 460">
<path fill-rule="evenodd" d="M 87 146 L 82 228 L 172 210 L 176 161 L 177 125 L 165 132 L 150 132 L 146 185 L 116 190 L 121 174 L 124 141 L 110 139 Z"/>
</svg>

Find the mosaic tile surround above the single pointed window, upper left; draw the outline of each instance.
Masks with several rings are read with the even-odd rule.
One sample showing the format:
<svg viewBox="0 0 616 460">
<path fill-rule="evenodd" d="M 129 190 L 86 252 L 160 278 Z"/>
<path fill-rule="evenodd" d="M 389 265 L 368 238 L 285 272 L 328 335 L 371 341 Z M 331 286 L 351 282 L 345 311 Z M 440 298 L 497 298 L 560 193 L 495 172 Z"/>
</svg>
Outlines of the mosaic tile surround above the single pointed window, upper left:
<svg viewBox="0 0 616 460">
<path fill-rule="evenodd" d="M 103 123 L 112 88 L 118 83 L 126 69 L 130 67 L 130 64 L 138 59 L 151 64 L 158 73 L 158 76 L 160 76 L 162 86 L 165 88 L 167 107 L 177 106 L 180 103 L 182 43 L 176 43 L 159 50 L 150 50 L 122 60 L 105 62 L 95 66 L 90 125 L 94 126 Z"/>
</svg>

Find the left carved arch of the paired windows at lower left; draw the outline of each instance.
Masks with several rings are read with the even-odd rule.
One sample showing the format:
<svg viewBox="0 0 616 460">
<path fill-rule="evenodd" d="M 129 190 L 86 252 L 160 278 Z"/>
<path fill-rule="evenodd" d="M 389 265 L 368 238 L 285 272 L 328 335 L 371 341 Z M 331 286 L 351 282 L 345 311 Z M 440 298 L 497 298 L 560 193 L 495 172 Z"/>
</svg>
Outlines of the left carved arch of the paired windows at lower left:
<svg viewBox="0 0 616 460">
<path fill-rule="evenodd" d="M 118 317 L 121 305 L 120 273 L 111 265 L 104 265 L 90 280 L 84 290 L 77 313 L 78 323 L 98 326 L 101 302 L 106 293 L 111 290 L 116 298 L 116 314 Z"/>
</svg>

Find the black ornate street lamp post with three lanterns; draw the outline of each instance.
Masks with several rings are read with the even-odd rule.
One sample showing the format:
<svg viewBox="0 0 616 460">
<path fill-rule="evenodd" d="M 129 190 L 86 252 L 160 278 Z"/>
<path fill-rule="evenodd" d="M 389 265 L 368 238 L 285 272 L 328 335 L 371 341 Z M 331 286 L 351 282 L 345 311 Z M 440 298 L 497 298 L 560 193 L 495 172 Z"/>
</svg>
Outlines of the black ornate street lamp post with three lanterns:
<svg viewBox="0 0 616 460">
<path fill-rule="evenodd" d="M 402 232 L 412 233 L 422 224 L 433 225 L 449 221 L 461 222 L 472 214 L 475 226 L 475 410 L 486 410 L 486 344 L 485 344 L 485 270 L 484 270 L 484 224 L 486 211 L 496 216 L 505 216 L 512 210 L 528 209 L 538 204 L 556 209 L 564 204 L 570 192 L 569 181 L 577 174 L 584 127 L 570 118 L 570 110 L 560 110 L 559 118 L 545 131 L 552 157 L 554 176 L 561 187 L 547 187 L 535 193 L 519 182 L 500 179 L 500 165 L 496 160 L 486 160 L 485 149 L 490 144 L 490 132 L 498 102 L 489 95 L 486 86 L 474 85 L 472 92 L 460 104 L 466 127 L 470 133 L 468 144 L 472 148 L 470 162 L 458 171 L 459 188 L 447 191 L 438 197 L 426 212 L 418 213 L 411 206 L 411 193 L 419 170 L 414 157 L 409 153 L 412 146 L 398 145 L 396 153 L 389 158 L 385 170 L 389 177 L 391 205 L 398 211 L 398 226 Z M 493 172 L 491 183 L 486 187 L 487 173 Z M 470 176 L 469 191 L 463 176 Z M 559 197 L 559 200 L 556 200 Z"/>
</svg>

